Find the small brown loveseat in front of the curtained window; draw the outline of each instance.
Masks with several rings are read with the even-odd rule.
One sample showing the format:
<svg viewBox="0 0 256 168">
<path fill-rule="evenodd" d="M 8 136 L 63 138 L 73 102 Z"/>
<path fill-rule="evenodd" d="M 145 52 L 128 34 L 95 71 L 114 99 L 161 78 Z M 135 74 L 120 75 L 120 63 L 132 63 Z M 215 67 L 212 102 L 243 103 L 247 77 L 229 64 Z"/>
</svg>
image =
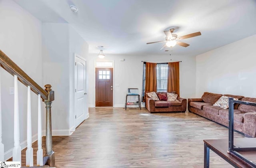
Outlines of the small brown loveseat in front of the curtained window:
<svg viewBox="0 0 256 168">
<path fill-rule="evenodd" d="M 166 92 L 156 92 L 159 93 Z M 187 99 L 178 97 L 178 101 L 154 101 L 150 97 L 146 96 L 146 109 L 150 113 L 163 113 L 163 112 L 185 112 L 187 108 Z"/>
</svg>

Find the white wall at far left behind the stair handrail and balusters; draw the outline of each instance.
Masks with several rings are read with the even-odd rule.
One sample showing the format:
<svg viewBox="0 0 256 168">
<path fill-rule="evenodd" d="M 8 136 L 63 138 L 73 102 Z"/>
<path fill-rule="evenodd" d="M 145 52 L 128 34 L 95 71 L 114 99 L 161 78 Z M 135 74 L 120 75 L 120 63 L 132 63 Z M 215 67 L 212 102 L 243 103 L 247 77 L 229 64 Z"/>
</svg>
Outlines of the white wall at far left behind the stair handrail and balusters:
<svg viewBox="0 0 256 168">
<path fill-rule="evenodd" d="M 41 87 L 42 84 L 42 23 L 22 9 L 12 0 L 0 0 L 0 49 L 6 53 Z M 1 68 L 2 93 L 2 141 L 5 159 L 12 155 L 14 146 L 14 95 L 9 95 L 9 87 L 14 87 L 13 76 Z M 19 87 L 20 142 L 26 146 L 27 89 Z M 44 87 L 43 87 L 44 88 Z M 31 93 L 32 136 L 37 139 L 37 96 Z M 43 104 L 42 104 L 42 107 Z M 43 108 L 42 108 L 43 109 Z"/>
</svg>

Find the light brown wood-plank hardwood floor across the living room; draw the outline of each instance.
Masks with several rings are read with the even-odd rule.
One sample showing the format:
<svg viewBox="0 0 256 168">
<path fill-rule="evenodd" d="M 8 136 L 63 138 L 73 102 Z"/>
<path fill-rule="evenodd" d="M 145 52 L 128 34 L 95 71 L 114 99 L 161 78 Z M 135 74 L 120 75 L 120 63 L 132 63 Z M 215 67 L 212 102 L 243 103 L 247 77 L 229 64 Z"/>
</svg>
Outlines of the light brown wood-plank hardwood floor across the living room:
<svg viewBox="0 0 256 168">
<path fill-rule="evenodd" d="M 71 136 L 53 137 L 57 168 L 202 168 L 203 140 L 228 139 L 228 128 L 189 112 L 91 108 L 89 113 Z M 211 152 L 210 167 L 232 166 Z"/>
</svg>

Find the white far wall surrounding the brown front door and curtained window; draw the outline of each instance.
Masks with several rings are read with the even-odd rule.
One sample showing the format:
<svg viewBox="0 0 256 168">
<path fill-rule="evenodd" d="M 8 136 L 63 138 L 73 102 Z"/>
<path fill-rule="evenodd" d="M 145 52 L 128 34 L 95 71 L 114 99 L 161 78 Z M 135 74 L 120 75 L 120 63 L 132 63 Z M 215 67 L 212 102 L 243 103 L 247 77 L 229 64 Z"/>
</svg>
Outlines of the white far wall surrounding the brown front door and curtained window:
<svg viewBox="0 0 256 168">
<path fill-rule="evenodd" d="M 180 63 L 180 96 L 184 98 L 195 97 L 196 88 L 196 58 L 193 56 L 166 55 L 108 55 L 99 59 L 97 54 L 90 54 L 88 59 L 89 71 L 89 107 L 95 107 L 95 68 L 94 61 L 114 61 L 114 107 L 124 107 L 126 91 L 129 87 L 142 92 L 142 66 L 146 62 L 175 62 Z M 120 61 L 125 59 L 125 61 Z M 172 59 L 172 60 L 170 60 Z M 117 87 L 116 85 L 119 85 Z M 143 103 L 144 105 L 144 103 Z"/>
</svg>

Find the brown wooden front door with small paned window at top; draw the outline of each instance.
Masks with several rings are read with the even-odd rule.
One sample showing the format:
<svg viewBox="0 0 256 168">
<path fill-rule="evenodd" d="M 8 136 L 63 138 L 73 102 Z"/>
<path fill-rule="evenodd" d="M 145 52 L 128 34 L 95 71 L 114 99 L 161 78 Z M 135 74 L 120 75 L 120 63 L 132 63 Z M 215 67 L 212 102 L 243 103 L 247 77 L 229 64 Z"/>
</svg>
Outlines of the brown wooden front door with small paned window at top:
<svg viewBox="0 0 256 168">
<path fill-rule="evenodd" d="M 96 107 L 113 107 L 113 68 L 96 68 Z"/>
</svg>

